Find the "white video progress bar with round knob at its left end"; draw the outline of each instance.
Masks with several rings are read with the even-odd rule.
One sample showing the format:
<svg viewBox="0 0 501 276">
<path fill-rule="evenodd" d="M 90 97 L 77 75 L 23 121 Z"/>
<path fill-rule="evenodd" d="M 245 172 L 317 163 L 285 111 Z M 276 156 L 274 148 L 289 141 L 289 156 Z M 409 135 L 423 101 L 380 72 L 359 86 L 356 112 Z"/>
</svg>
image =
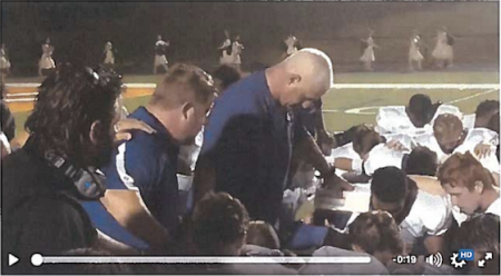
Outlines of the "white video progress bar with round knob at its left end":
<svg viewBox="0 0 501 276">
<path fill-rule="evenodd" d="M 351 257 L 118 257 L 42 256 L 33 254 L 31 264 L 369 264 L 369 256 Z"/>
</svg>

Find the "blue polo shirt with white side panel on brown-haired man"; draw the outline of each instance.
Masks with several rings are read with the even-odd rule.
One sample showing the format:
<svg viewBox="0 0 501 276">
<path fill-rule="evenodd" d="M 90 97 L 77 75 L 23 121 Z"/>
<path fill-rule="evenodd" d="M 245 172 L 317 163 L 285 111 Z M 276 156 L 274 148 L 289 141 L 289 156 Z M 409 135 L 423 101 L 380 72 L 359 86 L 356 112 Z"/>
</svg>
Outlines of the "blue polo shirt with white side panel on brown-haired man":
<svg viewBox="0 0 501 276">
<path fill-rule="evenodd" d="M 101 169 L 106 175 L 107 189 L 138 189 L 151 215 L 176 235 L 179 225 L 176 176 L 179 147 L 146 108 L 139 107 L 129 118 L 148 124 L 157 132 L 135 131 L 131 140 L 115 149 L 110 164 Z M 88 204 L 86 209 L 96 227 L 105 234 L 125 244 L 144 247 L 143 240 L 126 235 L 127 230 L 100 203 Z"/>
</svg>

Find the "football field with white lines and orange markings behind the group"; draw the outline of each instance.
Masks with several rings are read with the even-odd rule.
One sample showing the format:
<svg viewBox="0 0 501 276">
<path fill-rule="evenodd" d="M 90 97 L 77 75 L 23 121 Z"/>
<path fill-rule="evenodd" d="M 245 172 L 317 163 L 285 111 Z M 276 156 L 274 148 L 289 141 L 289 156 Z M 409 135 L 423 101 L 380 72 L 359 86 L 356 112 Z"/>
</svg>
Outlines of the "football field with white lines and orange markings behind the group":
<svg viewBox="0 0 501 276">
<path fill-rule="evenodd" d="M 153 83 L 159 76 L 125 76 L 130 85 L 125 92 L 125 105 L 129 111 L 145 105 L 153 93 Z M 403 106 L 414 93 L 426 93 L 432 101 L 458 106 L 463 114 L 474 112 L 479 102 L 499 100 L 498 71 L 426 71 L 426 72 L 348 72 L 334 76 L 336 85 L 362 85 L 363 88 L 333 89 L 324 96 L 324 121 L 327 130 L 342 131 L 358 124 L 374 124 L 379 107 Z M 27 138 L 23 130 L 26 118 L 31 112 L 36 86 L 40 78 L 9 78 L 8 102 L 16 117 L 17 138 L 22 145 Z M 145 86 L 141 86 L 144 83 Z M 389 85 L 377 88 L 371 85 Z M 404 83 L 413 85 L 412 88 Z M 440 83 L 491 85 L 477 88 L 440 88 Z M 431 86 L 425 86 L 431 85 Z M 435 86 L 435 87 L 434 87 Z"/>
</svg>

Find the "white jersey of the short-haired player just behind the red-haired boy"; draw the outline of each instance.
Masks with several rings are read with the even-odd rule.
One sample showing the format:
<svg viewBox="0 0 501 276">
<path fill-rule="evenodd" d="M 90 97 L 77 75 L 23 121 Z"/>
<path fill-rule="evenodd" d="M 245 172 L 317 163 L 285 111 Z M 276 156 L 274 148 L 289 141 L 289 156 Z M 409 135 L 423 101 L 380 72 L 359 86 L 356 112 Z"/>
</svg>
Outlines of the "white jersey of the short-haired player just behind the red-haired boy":
<svg viewBox="0 0 501 276">
<path fill-rule="evenodd" d="M 413 141 L 418 145 L 428 147 L 432 151 L 435 151 L 439 164 L 443 164 L 451 156 L 443 152 L 433 134 L 416 136 L 413 138 Z M 489 169 L 490 171 L 499 174 L 500 164 L 494 154 L 495 147 L 499 144 L 499 135 L 490 129 L 474 128 L 468 130 L 468 135 L 464 138 L 463 144 L 460 145 L 458 148 L 455 148 L 452 154 L 455 152 L 464 154 L 466 151 L 470 151 L 473 156 L 475 156 L 474 148 L 479 144 L 491 145 L 491 154 L 487 157 L 480 158 L 479 161 L 482 164 L 484 168 Z"/>
</svg>

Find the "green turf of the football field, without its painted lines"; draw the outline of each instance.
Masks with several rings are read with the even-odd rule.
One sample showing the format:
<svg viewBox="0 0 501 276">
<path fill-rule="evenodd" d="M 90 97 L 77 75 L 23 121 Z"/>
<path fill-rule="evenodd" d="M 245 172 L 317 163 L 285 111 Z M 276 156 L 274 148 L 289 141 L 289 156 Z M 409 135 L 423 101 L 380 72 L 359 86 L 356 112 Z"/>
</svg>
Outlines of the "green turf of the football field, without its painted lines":
<svg viewBox="0 0 501 276">
<path fill-rule="evenodd" d="M 126 76 L 124 81 L 131 82 L 156 82 L 159 76 Z M 33 82 L 28 79 L 20 79 Z M 19 79 L 9 80 L 12 82 L 22 82 Z M 335 75 L 337 83 L 499 83 L 499 73 L 494 71 L 487 72 L 416 72 L 416 73 L 338 73 Z M 375 109 L 369 110 L 370 115 L 346 114 L 344 111 L 353 108 L 381 107 L 381 106 L 404 106 L 409 102 L 412 95 L 422 92 L 431 97 L 433 101 L 441 100 L 449 102 L 452 100 L 464 99 L 475 93 L 484 92 L 481 89 L 471 90 L 444 90 L 444 89 L 338 89 L 333 90 L 324 97 L 324 110 L 340 110 L 337 112 L 324 112 L 324 120 L 327 130 L 341 131 L 358 124 L 374 124 Z M 125 106 L 129 111 L 134 111 L 138 106 L 145 105 L 149 96 L 125 99 Z M 499 100 L 499 91 L 464 99 L 454 105 L 463 114 L 474 112 L 477 106 L 485 99 Z M 29 112 L 16 112 L 16 124 L 18 132 L 22 130 Z"/>
</svg>

